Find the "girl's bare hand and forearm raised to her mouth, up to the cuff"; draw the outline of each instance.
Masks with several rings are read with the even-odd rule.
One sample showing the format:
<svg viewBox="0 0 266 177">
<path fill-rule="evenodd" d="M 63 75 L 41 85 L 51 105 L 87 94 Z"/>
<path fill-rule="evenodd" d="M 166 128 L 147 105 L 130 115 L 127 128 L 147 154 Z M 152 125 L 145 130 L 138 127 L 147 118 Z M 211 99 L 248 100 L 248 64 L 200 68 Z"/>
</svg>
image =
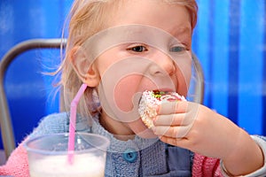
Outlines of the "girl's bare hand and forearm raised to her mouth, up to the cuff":
<svg viewBox="0 0 266 177">
<path fill-rule="evenodd" d="M 163 103 L 153 124 L 162 142 L 221 158 L 230 173 L 250 173 L 263 165 L 262 150 L 250 135 L 204 105 Z"/>
</svg>

